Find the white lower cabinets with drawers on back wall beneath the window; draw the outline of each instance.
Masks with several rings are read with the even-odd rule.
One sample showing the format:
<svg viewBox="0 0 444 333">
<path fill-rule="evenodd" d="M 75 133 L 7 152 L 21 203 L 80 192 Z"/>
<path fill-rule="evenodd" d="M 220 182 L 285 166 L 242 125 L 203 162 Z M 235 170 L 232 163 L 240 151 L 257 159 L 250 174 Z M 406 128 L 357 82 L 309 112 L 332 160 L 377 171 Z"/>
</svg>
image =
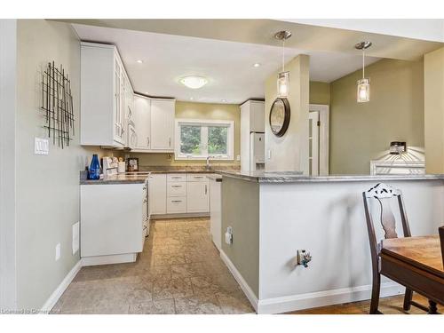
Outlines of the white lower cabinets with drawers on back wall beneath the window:
<svg viewBox="0 0 444 333">
<path fill-rule="evenodd" d="M 152 174 L 149 178 L 150 212 L 205 214 L 210 212 L 210 183 L 206 174 Z"/>
</svg>

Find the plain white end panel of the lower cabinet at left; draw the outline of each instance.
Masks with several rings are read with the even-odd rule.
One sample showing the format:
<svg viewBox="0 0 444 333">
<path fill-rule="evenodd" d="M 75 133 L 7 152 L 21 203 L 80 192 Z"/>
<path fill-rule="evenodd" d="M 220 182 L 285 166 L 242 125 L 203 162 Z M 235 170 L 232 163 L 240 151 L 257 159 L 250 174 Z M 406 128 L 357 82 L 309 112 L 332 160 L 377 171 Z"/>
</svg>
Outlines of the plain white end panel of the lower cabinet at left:
<svg viewBox="0 0 444 333">
<path fill-rule="evenodd" d="M 147 221 L 145 184 L 80 186 L 83 266 L 135 261 Z"/>
</svg>

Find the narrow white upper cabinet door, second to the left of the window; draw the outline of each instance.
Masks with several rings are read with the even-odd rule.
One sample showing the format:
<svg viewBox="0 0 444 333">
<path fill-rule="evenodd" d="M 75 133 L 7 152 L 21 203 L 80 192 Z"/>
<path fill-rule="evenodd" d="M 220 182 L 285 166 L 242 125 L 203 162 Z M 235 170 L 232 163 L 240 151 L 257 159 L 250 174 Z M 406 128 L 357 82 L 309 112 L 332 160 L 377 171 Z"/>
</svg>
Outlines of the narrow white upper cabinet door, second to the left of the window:
<svg viewBox="0 0 444 333">
<path fill-rule="evenodd" d="M 134 111 L 132 119 L 136 127 L 137 142 L 134 149 L 149 150 L 150 149 L 150 131 L 151 131 L 151 107 L 150 100 L 145 97 L 134 97 Z"/>
</svg>

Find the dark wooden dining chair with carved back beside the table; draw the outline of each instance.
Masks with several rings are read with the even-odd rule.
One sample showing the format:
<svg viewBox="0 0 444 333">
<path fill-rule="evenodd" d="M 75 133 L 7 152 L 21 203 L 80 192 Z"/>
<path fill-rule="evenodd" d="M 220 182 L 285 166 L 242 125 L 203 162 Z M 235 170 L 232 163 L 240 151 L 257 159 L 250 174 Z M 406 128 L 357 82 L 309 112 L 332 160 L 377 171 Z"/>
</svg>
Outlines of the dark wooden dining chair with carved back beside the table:
<svg viewBox="0 0 444 333">
<path fill-rule="evenodd" d="M 404 202 L 402 200 L 402 194 L 400 190 L 387 186 L 383 183 L 377 184 L 377 186 L 371 187 L 368 191 L 362 192 L 362 198 L 364 200 L 365 217 L 367 220 L 367 230 L 369 232 L 370 242 L 370 256 L 372 266 L 372 291 L 370 302 L 370 314 L 381 313 L 377 309 L 379 305 L 379 291 L 381 289 L 381 274 L 379 270 L 379 253 L 381 251 L 381 243 L 377 242 L 377 236 L 375 233 L 375 226 L 373 224 L 372 214 L 369 210 L 369 202 L 371 200 L 379 203 L 378 219 L 384 229 L 385 239 L 398 238 L 396 234 L 396 220 L 394 218 L 391 202 L 396 199 L 400 208 L 400 221 L 402 224 L 402 231 L 404 237 L 410 237 L 410 228 L 408 226 L 408 218 L 406 210 L 404 208 Z M 408 311 L 411 305 L 414 305 L 424 311 L 429 311 L 428 307 L 420 305 L 412 300 L 413 291 L 406 288 L 404 295 L 404 310 Z"/>
</svg>

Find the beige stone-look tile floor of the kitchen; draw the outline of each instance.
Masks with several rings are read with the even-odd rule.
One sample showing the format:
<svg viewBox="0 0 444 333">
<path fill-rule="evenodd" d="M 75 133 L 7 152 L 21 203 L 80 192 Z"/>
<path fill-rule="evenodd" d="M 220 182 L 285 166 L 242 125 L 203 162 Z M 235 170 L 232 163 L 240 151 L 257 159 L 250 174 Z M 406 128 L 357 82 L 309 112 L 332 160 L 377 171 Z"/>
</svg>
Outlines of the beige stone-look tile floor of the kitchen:
<svg viewBox="0 0 444 333">
<path fill-rule="evenodd" d="M 254 313 L 208 218 L 157 220 L 135 263 L 83 267 L 53 313 Z"/>
</svg>

